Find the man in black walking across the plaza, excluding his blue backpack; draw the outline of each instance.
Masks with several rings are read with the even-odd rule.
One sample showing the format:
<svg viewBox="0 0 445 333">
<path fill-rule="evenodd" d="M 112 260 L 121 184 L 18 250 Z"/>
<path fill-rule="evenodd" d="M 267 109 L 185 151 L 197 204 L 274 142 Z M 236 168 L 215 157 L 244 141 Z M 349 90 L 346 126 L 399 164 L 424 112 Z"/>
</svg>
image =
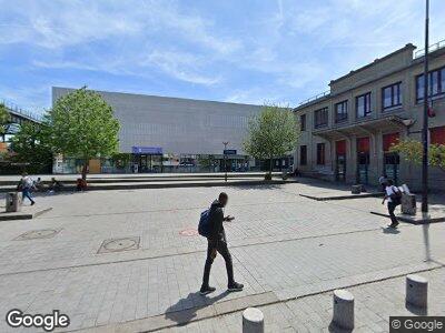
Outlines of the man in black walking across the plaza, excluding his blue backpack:
<svg viewBox="0 0 445 333">
<path fill-rule="evenodd" d="M 214 260 L 216 258 L 217 252 L 222 255 L 226 262 L 226 270 L 227 270 L 227 290 L 229 292 L 241 291 L 244 285 L 240 283 L 235 282 L 234 280 L 234 264 L 231 262 L 231 255 L 227 248 L 227 239 L 226 232 L 224 230 L 222 222 L 227 221 L 230 222 L 235 218 L 227 215 L 224 216 L 224 208 L 227 205 L 228 195 L 225 192 L 221 192 L 218 196 L 218 200 L 215 200 L 211 203 L 209 215 L 208 215 L 208 223 L 210 226 L 210 234 L 207 238 L 207 260 L 206 265 L 204 268 L 204 276 L 202 276 L 202 285 L 200 289 L 200 294 L 206 295 L 208 293 L 214 292 L 216 289 L 209 285 L 209 278 L 210 278 L 210 269 Z"/>
</svg>

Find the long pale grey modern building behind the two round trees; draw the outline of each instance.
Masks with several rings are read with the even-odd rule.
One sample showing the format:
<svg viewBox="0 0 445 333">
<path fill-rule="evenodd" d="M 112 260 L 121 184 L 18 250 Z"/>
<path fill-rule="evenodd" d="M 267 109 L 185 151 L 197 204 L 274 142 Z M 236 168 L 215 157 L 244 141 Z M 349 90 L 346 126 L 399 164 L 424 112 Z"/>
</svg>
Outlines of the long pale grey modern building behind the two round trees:
<svg viewBox="0 0 445 333">
<path fill-rule="evenodd" d="M 70 91 L 72 89 L 53 87 L 52 102 Z M 119 120 L 119 151 L 132 155 L 127 172 L 222 171 L 225 168 L 247 171 L 259 168 L 259 163 L 256 165 L 243 150 L 243 141 L 248 121 L 260 112 L 260 105 L 98 93 L 111 105 Z M 224 142 L 227 142 L 226 147 Z M 225 149 L 229 153 L 226 157 Z M 200 161 L 205 161 L 205 169 L 198 168 Z M 288 163 L 288 159 L 286 161 Z M 116 172 L 107 163 L 91 161 L 90 172 Z M 76 163 L 71 168 L 63 165 L 60 159 L 56 164 L 61 167 L 56 172 L 77 172 L 72 169 L 80 168 Z"/>
</svg>

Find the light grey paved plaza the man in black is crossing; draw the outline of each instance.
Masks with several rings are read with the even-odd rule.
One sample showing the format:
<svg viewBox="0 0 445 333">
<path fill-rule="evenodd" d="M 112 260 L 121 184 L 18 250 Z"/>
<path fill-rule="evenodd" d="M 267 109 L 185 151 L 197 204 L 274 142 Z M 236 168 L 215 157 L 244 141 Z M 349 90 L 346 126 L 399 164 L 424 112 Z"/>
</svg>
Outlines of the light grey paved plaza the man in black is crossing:
<svg viewBox="0 0 445 333">
<path fill-rule="evenodd" d="M 206 240 L 199 213 L 229 194 L 226 223 L 235 278 L 226 292 L 217 256 L 200 296 Z M 428 314 L 445 315 L 445 223 L 386 229 L 382 199 L 315 201 L 310 184 L 95 191 L 38 196 L 51 211 L 0 223 L 0 332 L 11 309 L 58 309 L 85 332 L 240 332 L 241 310 L 258 306 L 266 331 L 329 330 L 332 291 L 356 296 L 356 331 L 387 332 L 389 315 L 412 314 L 405 280 L 429 281 Z M 443 210 L 439 204 L 436 210 Z M 181 326 L 177 326 L 181 325 Z M 32 330 L 24 330 L 30 332 Z"/>
</svg>

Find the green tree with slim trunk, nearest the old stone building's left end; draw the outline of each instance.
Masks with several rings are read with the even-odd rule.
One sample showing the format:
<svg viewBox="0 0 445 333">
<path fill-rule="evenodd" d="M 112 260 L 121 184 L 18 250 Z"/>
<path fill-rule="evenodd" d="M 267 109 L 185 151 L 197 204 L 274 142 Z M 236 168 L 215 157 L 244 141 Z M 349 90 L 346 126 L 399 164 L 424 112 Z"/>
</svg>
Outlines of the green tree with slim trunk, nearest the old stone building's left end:
<svg viewBox="0 0 445 333">
<path fill-rule="evenodd" d="M 271 179 L 274 158 L 294 151 L 299 137 L 297 124 L 291 109 L 276 104 L 265 104 L 261 112 L 250 119 L 244 150 L 256 159 L 270 161 L 266 179 Z"/>
</svg>

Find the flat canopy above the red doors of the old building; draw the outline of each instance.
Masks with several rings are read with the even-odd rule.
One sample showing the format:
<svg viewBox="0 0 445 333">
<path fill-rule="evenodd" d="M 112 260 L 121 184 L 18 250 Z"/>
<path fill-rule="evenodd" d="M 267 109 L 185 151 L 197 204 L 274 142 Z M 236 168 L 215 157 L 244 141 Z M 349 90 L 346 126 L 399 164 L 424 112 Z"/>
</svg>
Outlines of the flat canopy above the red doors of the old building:
<svg viewBox="0 0 445 333">
<path fill-rule="evenodd" d="M 342 140 L 349 139 L 352 137 L 367 137 L 376 134 L 377 131 L 397 131 L 406 129 L 407 124 L 412 124 L 413 121 L 404 119 L 397 115 L 390 115 L 374 120 L 359 121 L 353 124 L 337 124 L 336 127 L 328 129 L 320 129 L 313 132 L 313 135 L 320 137 L 326 140 Z"/>
</svg>

